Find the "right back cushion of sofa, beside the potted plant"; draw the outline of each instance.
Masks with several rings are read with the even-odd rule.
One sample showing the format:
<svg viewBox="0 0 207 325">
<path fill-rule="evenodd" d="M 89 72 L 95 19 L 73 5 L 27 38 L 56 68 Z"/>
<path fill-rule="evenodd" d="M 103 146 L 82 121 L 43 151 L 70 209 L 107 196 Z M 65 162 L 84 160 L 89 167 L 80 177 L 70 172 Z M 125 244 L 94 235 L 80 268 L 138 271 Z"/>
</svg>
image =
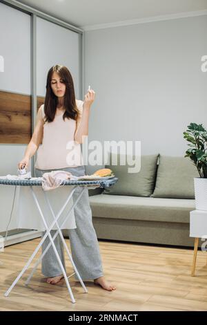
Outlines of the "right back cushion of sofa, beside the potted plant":
<svg viewBox="0 0 207 325">
<path fill-rule="evenodd" d="M 189 158 L 159 156 L 153 198 L 195 198 L 194 177 L 197 168 Z"/>
</svg>

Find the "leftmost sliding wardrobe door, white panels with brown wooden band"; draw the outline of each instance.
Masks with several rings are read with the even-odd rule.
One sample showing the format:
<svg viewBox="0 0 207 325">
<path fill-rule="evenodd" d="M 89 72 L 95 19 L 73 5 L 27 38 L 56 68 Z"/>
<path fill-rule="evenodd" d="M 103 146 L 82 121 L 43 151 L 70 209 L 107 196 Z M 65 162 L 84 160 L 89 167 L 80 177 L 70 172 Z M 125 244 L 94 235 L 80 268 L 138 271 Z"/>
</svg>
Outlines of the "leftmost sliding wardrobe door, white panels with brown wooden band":
<svg viewBox="0 0 207 325">
<path fill-rule="evenodd" d="M 0 3 L 0 175 L 17 175 L 31 136 L 30 15 Z M 28 169 L 30 170 L 30 169 Z M 0 185 L 0 234 L 10 221 L 14 186 Z M 10 224 L 8 226 L 8 223 Z"/>
</svg>

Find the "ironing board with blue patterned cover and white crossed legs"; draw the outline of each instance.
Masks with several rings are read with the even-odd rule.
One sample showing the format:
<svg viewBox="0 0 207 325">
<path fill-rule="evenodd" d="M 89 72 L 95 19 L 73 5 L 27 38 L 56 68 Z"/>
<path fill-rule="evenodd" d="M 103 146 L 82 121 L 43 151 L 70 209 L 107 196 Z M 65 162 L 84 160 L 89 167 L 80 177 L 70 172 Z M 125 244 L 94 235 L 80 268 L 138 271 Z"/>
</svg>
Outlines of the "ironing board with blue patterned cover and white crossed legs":
<svg viewBox="0 0 207 325">
<path fill-rule="evenodd" d="M 54 211 L 52 210 L 52 206 L 50 204 L 50 201 L 48 200 L 48 196 L 47 196 L 47 192 L 44 191 L 42 189 L 42 195 L 45 196 L 46 198 L 46 203 L 48 204 L 48 207 L 50 209 L 50 212 L 52 214 L 53 217 L 53 221 L 50 225 L 48 225 L 48 223 L 46 222 L 46 218 L 43 215 L 42 209 L 39 205 L 39 201 L 38 198 L 34 192 L 33 187 L 34 186 L 41 186 L 41 180 L 32 180 L 32 179 L 16 179 L 16 180 L 10 180 L 10 179 L 2 179 L 0 178 L 0 185 L 15 185 L 15 186 L 28 186 L 30 188 L 30 191 L 32 192 L 32 197 L 34 198 L 34 202 L 37 205 L 37 209 L 39 210 L 39 215 L 41 216 L 41 219 L 43 221 L 43 224 L 45 225 L 46 228 L 46 233 L 44 234 L 43 238 L 41 239 L 41 241 L 39 242 L 39 244 L 37 245 L 37 248 L 35 248 L 34 252 L 32 253 L 30 259 L 28 259 L 28 262 L 26 263 L 26 265 L 23 267 L 23 269 L 21 270 L 21 272 L 19 273 L 19 275 L 17 276 L 17 278 L 14 280 L 14 282 L 12 283 L 12 285 L 10 286 L 10 288 L 6 291 L 5 296 L 7 297 L 12 288 L 14 288 L 14 286 L 17 284 L 17 282 L 19 281 L 19 279 L 22 277 L 23 273 L 26 272 L 26 270 L 28 269 L 28 267 L 30 266 L 30 263 L 32 263 L 32 260 L 34 259 L 35 255 L 37 254 L 39 248 L 41 248 L 41 245 L 43 244 L 43 242 L 45 241 L 46 237 L 48 236 L 50 239 L 50 243 L 48 244 L 46 250 L 43 251 L 43 254 L 41 254 L 41 257 L 39 257 L 39 259 L 37 260 L 37 262 L 34 264 L 34 268 L 32 269 L 32 272 L 30 273 L 28 279 L 26 280 L 26 285 L 29 284 L 30 279 L 32 278 L 32 275 L 34 274 L 35 270 L 37 270 L 37 266 L 39 265 L 39 263 L 41 262 L 41 259 L 43 258 L 44 254 L 46 254 L 46 252 L 48 251 L 48 249 L 50 248 L 50 246 L 52 245 L 53 250 L 55 251 L 55 255 L 57 257 L 57 261 L 59 263 L 59 266 L 61 267 L 61 270 L 63 272 L 63 277 L 66 281 L 66 285 L 68 287 L 68 292 L 70 295 L 70 299 L 72 301 L 72 303 L 75 303 L 75 298 L 73 297 L 72 294 L 72 290 L 70 288 L 70 284 L 68 281 L 69 277 L 72 277 L 72 275 L 76 274 L 81 286 L 83 287 L 83 290 L 85 293 L 88 293 L 88 290 L 86 289 L 85 284 L 83 283 L 83 280 L 81 279 L 79 272 L 75 266 L 74 261 L 72 260 L 72 256 L 68 250 L 68 246 L 66 245 L 66 241 L 63 238 L 63 234 L 61 232 L 61 228 L 63 228 L 63 224 L 66 223 L 68 216 L 70 216 L 70 212 L 72 209 L 74 209 L 74 207 L 77 205 L 77 202 L 79 201 L 79 199 L 81 198 L 81 195 L 83 194 L 83 190 L 85 187 L 88 187 L 88 189 L 90 188 L 95 188 L 95 187 L 101 187 L 101 188 L 106 188 L 106 187 L 110 187 L 112 185 L 114 185 L 117 182 L 118 178 L 114 177 L 114 178 L 109 178 L 109 179 L 105 179 L 105 180 L 64 180 L 63 183 L 61 183 L 62 186 L 72 186 L 72 191 L 70 191 L 68 198 L 66 199 L 66 202 L 63 204 L 63 206 L 61 207 L 61 209 L 59 210 L 59 212 L 55 215 Z M 81 186 L 81 191 L 79 192 L 79 196 L 77 197 L 77 200 L 75 202 L 73 202 L 72 207 L 70 207 L 70 210 L 68 211 L 68 213 L 66 214 L 66 216 L 64 217 L 64 220 L 62 220 L 63 222 L 61 223 L 61 225 L 59 225 L 58 220 L 61 216 L 61 214 L 63 213 L 63 210 L 65 210 L 66 206 L 68 205 L 68 202 L 70 201 L 70 198 L 72 198 L 72 194 L 75 192 L 75 189 Z M 56 189 L 52 189 L 52 191 L 55 191 Z M 56 225 L 57 226 L 57 231 L 55 232 L 54 236 L 52 237 L 50 234 L 50 230 L 52 229 L 52 227 Z M 66 248 L 66 252 L 68 254 L 68 257 L 70 259 L 70 262 L 72 263 L 72 267 L 74 269 L 75 272 L 72 273 L 72 275 L 70 275 L 69 277 L 67 277 L 66 275 L 66 271 L 63 268 L 63 264 L 61 263 L 61 259 L 59 257 L 59 254 L 57 252 L 57 249 L 55 247 L 55 238 L 57 237 L 57 235 L 60 235 L 61 237 L 61 241 L 63 242 L 63 246 L 64 248 Z"/>
</svg>

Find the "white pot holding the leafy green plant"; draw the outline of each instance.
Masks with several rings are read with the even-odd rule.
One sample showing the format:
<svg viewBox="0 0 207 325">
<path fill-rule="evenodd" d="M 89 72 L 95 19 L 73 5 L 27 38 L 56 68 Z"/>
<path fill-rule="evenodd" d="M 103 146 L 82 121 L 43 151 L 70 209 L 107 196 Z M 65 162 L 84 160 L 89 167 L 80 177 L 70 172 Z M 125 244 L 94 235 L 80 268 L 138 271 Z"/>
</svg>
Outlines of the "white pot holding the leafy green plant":
<svg viewBox="0 0 207 325">
<path fill-rule="evenodd" d="M 207 178 L 195 177 L 195 208 L 207 211 Z"/>
</svg>

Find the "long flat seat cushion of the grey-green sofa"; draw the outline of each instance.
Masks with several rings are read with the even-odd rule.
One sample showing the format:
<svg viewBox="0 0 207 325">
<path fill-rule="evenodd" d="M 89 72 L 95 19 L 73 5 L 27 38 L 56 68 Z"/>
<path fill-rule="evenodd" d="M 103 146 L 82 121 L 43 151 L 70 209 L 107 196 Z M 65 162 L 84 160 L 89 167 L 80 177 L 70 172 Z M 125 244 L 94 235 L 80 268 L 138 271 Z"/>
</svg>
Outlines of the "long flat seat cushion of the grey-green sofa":
<svg viewBox="0 0 207 325">
<path fill-rule="evenodd" d="M 189 223 L 195 200 L 99 194 L 90 196 L 93 217 Z"/>
</svg>

